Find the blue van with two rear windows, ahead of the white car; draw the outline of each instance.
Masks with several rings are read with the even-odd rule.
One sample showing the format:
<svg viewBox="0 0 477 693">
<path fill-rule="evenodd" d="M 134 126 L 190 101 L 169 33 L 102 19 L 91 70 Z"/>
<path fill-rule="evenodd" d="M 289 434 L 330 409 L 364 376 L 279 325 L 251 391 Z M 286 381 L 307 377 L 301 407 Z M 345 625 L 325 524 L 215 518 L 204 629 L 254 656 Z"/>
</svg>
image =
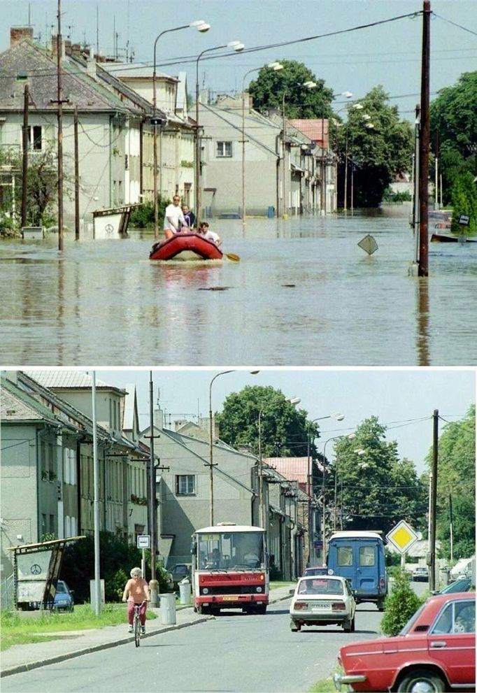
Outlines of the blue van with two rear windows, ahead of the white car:
<svg viewBox="0 0 477 693">
<path fill-rule="evenodd" d="M 373 601 L 384 610 L 387 574 L 384 543 L 376 531 L 336 531 L 328 540 L 328 574 L 346 578 L 356 603 Z"/>
</svg>

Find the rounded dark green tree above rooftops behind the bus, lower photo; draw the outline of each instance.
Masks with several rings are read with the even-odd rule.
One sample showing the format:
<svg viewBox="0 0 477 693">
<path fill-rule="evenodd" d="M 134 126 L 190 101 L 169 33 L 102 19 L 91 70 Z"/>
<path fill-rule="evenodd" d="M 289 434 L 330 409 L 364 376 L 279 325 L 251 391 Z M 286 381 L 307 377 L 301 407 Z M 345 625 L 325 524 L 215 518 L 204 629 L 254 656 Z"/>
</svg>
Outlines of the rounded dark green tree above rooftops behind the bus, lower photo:
<svg viewBox="0 0 477 693">
<path fill-rule="evenodd" d="M 316 455 L 313 438 L 318 437 L 318 427 L 307 422 L 304 409 L 295 408 L 271 386 L 248 385 L 227 396 L 222 412 L 215 415 L 220 438 L 234 448 L 248 445 L 258 455 L 260 411 L 262 457 L 306 457 L 308 434 L 310 454 Z"/>
</svg>

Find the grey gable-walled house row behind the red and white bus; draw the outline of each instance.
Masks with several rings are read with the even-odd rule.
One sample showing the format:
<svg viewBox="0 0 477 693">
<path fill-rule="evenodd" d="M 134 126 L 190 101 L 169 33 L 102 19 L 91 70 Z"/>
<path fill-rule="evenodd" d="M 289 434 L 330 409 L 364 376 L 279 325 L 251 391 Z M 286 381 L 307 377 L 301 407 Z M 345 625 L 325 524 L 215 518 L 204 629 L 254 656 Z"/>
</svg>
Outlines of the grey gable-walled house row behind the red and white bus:
<svg viewBox="0 0 477 693">
<path fill-rule="evenodd" d="M 246 450 L 235 450 L 220 440 L 214 424 L 213 513 L 214 524 L 259 524 L 259 460 Z M 176 422 L 164 426 L 161 410 L 155 412 L 155 452 L 161 464 L 157 476 L 159 499 L 159 552 L 170 567 L 190 562 L 192 533 L 210 524 L 209 420 L 199 424 Z M 143 431 L 148 440 L 150 428 Z M 265 529 L 269 555 L 284 579 L 301 574 L 304 564 L 304 531 L 299 520 L 297 488 L 264 465 Z"/>
</svg>

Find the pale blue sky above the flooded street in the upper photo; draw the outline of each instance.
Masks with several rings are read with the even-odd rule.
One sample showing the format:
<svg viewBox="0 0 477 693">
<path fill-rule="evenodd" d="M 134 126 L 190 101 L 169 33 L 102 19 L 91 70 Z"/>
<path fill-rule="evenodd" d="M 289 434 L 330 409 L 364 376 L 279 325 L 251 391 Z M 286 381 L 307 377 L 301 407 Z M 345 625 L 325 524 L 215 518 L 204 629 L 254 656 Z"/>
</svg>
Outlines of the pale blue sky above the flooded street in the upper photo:
<svg viewBox="0 0 477 693">
<path fill-rule="evenodd" d="M 431 7 L 439 15 L 431 22 L 432 98 L 463 72 L 476 69 L 477 1 L 432 0 Z M 422 0 L 62 0 L 62 35 L 90 43 L 94 50 L 99 43 L 100 52 L 111 55 L 117 34 L 121 55 L 134 52 L 136 62 L 151 64 L 162 31 L 204 20 L 211 24 L 206 34 L 187 28 L 169 31 L 157 42 L 158 70 L 186 71 L 189 92 L 195 88 L 197 55 L 238 40 L 245 44 L 241 54 L 218 50 L 201 58 L 201 87 L 213 94 L 241 92 L 255 77 L 251 73 L 245 79 L 249 70 L 292 59 L 306 64 L 335 94 L 352 92 L 359 99 L 383 85 L 401 117 L 412 121 L 420 92 L 422 17 L 321 36 L 420 10 Z M 0 51 L 8 48 L 9 27 L 29 21 L 34 35 L 45 41 L 56 13 L 56 0 L 1 0 Z M 321 38 L 301 41 L 314 36 Z M 301 43 L 250 50 L 286 41 Z M 336 110 L 344 101 L 336 97 Z"/>
</svg>

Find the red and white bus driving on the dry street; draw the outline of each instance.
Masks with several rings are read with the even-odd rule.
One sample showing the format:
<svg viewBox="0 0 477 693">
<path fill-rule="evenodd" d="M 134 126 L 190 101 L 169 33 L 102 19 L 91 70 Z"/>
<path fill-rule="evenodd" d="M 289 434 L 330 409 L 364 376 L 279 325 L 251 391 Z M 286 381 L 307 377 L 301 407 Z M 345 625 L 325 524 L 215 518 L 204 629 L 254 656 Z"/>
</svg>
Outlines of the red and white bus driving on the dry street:
<svg viewBox="0 0 477 693">
<path fill-rule="evenodd" d="M 233 522 L 197 529 L 192 534 L 192 594 L 199 613 L 235 608 L 265 613 L 269 603 L 265 530 Z"/>
</svg>

